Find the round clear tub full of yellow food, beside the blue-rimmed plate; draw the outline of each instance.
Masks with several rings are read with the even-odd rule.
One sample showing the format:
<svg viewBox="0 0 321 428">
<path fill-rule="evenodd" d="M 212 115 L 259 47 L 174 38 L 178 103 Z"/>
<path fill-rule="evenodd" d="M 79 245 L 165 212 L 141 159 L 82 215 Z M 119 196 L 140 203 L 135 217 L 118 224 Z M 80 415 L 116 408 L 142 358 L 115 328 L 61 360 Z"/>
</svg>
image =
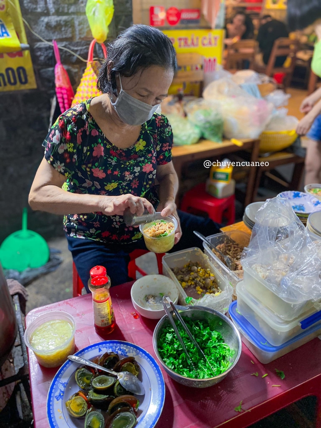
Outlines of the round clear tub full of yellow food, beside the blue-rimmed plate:
<svg viewBox="0 0 321 428">
<path fill-rule="evenodd" d="M 59 367 L 75 352 L 75 321 L 67 312 L 47 312 L 25 331 L 25 342 L 44 367 Z"/>
</svg>

